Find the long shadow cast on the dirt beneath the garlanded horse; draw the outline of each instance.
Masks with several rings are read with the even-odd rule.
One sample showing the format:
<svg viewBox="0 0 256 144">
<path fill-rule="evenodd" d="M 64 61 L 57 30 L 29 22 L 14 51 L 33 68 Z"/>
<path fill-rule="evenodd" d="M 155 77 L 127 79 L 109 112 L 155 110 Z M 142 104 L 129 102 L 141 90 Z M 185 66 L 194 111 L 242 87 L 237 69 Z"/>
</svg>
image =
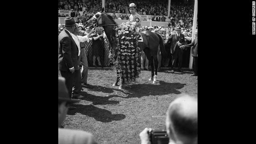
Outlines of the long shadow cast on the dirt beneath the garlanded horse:
<svg viewBox="0 0 256 144">
<path fill-rule="evenodd" d="M 118 101 L 109 100 L 113 97 L 121 97 L 121 98 L 141 98 L 142 96 L 161 96 L 165 94 L 181 94 L 178 91 L 181 88 L 184 88 L 186 84 L 180 83 L 168 83 L 164 81 L 157 81 L 157 84 L 130 84 L 126 85 L 124 89 L 119 90 L 115 88 L 106 88 L 102 86 L 83 86 L 88 88 L 88 90 L 93 90 L 96 92 L 105 92 L 112 94 L 115 91 L 122 92 L 125 95 L 129 96 L 118 96 L 118 95 L 109 95 L 109 96 L 94 96 L 92 94 L 87 94 L 86 92 L 81 92 L 81 95 L 84 96 L 82 100 L 87 100 L 92 102 L 94 105 L 105 105 L 105 104 L 119 104 Z"/>
</svg>

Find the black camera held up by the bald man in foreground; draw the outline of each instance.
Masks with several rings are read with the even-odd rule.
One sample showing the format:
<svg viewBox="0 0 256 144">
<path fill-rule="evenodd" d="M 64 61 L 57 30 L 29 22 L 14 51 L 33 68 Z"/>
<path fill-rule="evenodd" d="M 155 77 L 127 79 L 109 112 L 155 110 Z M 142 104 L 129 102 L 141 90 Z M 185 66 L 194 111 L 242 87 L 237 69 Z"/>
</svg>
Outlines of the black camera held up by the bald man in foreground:
<svg viewBox="0 0 256 144">
<path fill-rule="evenodd" d="M 148 133 L 149 133 L 151 144 L 168 144 L 169 143 L 169 137 L 167 135 L 166 130 L 150 129 Z"/>
</svg>

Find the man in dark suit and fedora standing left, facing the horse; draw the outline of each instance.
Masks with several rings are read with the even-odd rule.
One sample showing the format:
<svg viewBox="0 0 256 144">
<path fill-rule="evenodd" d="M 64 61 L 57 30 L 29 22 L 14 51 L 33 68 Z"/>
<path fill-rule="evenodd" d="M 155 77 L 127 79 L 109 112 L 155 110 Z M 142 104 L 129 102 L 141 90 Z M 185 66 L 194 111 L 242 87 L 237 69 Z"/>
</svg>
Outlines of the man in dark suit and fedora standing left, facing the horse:
<svg viewBox="0 0 256 144">
<path fill-rule="evenodd" d="M 80 70 L 78 65 L 78 46 L 76 46 L 76 42 L 71 36 L 72 32 L 74 32 L 74 29 L 76 28 L 74 18 L 65 18 L 64 26 L 65 29 L 62 30 L 58 36 L 58 65 L 61 76 L 66 79 L 68 95 L 71 98 L 75 70 Z M 70 106 L 69 108 L 74 109 L 75 107 Z"/>
</svg>

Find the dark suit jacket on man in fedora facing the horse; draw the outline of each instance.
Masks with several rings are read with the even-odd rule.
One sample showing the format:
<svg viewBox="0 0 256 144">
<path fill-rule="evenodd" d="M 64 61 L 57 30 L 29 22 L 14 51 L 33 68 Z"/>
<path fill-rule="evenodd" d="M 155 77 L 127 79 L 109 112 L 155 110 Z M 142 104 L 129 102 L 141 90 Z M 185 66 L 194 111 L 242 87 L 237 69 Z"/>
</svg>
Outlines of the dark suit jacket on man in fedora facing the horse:
<svg viewBox="0 0 256 144">
<path fill-rule="evenodd" d="M 69 72 L 74 67 L 78 70 L 78 47 L 76 42 L 67 30 L 62 30 L 59 34 L 59 70 Z"/>
</svg>

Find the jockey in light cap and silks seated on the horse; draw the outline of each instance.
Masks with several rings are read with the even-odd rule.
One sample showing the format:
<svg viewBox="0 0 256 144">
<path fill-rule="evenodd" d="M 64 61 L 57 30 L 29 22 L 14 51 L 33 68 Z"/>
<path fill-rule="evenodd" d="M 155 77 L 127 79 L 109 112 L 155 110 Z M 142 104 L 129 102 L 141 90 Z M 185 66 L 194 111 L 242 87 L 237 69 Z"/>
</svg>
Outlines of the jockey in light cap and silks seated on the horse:
<svg viewBox="0 0 256 144">
<path fill-rule="evenodd" d="M 136 12 L 136 5 L 134 3 L 130 4 L 129 9 L 132 14 L 129 16 L 129 20 L 126 24 L 134 25 L 136 32 L 139 33 L 141 27 L 141 16 Z"/>
</svg>

